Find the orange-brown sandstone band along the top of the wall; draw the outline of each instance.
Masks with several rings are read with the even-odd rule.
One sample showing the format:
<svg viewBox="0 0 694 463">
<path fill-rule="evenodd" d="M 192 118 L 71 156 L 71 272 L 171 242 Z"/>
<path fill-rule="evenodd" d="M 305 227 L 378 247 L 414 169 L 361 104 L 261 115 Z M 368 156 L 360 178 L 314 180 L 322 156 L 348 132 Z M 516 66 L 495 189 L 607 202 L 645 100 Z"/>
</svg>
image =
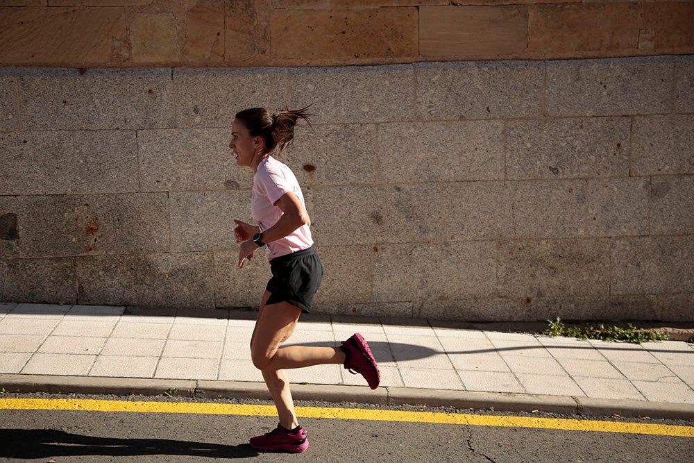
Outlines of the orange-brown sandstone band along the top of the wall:
<svg viewBox="0 0 694 463">
<path fill-rule="evenodd" d="M 694 53 L 676 0 L 0 0 L 0 66 L 294 67 Z"/>
</svg>

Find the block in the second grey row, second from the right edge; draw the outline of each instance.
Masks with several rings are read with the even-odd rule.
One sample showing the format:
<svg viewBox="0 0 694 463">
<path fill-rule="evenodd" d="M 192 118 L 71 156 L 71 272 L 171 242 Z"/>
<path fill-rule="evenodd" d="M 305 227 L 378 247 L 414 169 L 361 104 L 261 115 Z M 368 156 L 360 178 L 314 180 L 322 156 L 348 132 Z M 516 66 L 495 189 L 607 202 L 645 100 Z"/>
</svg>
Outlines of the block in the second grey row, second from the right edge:
<svg viewBox="0 0 694 463">
<path fill-rule="evenodd" d="M 626 117 L 507 121 L 506 126 L 509 178 L 629 175 Z"/>
</svg>

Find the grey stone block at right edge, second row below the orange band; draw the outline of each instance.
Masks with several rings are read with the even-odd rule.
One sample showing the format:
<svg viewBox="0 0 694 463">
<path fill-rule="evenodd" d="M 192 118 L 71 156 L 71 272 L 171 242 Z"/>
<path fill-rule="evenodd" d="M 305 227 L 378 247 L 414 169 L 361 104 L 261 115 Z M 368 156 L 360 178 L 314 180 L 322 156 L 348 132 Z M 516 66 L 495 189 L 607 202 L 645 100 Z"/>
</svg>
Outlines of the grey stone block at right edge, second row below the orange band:
<svg viewBox="0 0 694 463">
<path fill-rule="evenodd" d="M 634 117 L 632 134 L 632 175 L 694 173 L 694 115 Z"/>
</svg>

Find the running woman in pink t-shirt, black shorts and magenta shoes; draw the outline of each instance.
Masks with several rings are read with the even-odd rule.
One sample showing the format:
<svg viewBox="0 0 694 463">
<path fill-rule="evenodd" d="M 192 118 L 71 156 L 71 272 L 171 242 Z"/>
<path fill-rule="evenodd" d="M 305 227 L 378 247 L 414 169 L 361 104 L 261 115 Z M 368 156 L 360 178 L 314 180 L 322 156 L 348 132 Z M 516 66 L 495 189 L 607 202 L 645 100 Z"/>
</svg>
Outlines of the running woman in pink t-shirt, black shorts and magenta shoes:
<svg viewBox="0 0 694 463">
<path fill-rule="evenodd" d="M 302 312 L 310 312 L 323 278 L 301 187 L 289 167 L 273 157 L 276 153 L 279 158 L 294 140 L 299 119 L 310 124 L 307 109 L 285 108 L 270 114 L 264 108 L 250 108 L 238 112 L 231 126 L 229 148 L 236 163 L 253 171 L 251 213 L 257 223 L 235 220 L 239 268 L 262 249 L 272 273 L 251 337 L 251 358 L 262 372 L 279 424 L 265 435 L 251 437 L 251 446 L 259 451 L 300 453 L 308 448 L 306 432 L 294 411 L 288 369 L 343 364 L 351 373 L 362 374 L 371 389 L 380 382 L 378 364 L 359 333 L 337 347 L 281 347 L 294 332 Z"/>
</svg>

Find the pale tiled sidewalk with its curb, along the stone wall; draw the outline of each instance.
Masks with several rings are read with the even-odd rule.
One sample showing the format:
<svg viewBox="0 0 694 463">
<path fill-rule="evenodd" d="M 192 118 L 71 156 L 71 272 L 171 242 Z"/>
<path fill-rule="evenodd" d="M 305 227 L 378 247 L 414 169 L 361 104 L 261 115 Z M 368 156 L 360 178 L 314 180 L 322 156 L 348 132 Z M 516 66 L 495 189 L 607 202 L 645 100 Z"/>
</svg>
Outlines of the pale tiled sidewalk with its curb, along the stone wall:
<svg viewBox="0 0 694 463">
<path fill-rule="evenodd" d="M 248 349 L 254 321 L 235 310 L 0 303 L 0 387 L 267 398 Z M 289 372 L 295 398 L 694 419 L 692 344 L 407 323 L 303 317 L 287 345 L 335 346 L 361 332 L 382 387 L 323 365 Z"/>
</svg>

